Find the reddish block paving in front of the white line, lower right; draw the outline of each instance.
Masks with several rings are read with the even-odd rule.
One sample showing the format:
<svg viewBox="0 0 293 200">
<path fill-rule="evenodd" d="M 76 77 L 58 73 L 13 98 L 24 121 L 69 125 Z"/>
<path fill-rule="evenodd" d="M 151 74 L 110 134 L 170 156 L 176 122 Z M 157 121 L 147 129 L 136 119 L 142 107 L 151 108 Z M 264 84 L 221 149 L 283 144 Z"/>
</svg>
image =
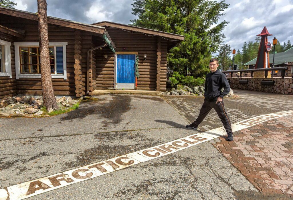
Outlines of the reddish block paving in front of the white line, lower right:
<svg viewBox="0 0 293 200">
<path fill-rule="evenodd" d="M 263 193 L 293 198 L 293 116 L 269 120 L 223 137 L 214 146 Z"/>
</svg>

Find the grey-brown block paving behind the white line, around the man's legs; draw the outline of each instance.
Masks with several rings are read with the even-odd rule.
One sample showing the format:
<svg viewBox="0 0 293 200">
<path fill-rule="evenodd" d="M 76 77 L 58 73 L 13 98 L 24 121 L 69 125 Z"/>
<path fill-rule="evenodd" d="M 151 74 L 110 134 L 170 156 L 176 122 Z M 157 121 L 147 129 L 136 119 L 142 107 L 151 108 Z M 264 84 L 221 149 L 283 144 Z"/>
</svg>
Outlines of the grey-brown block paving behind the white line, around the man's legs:
<svg viewBox="0 0 293 200">
<path fill-rule="evenodd" d="M 251 91 L 234 93 L 242 98 L 224 97 L 225 110 L 231 123 L 258 115 L 292 110 L 293 96 Z M 197 118 L 204 101 L 203 97 L 195 96 L 163 96 L 163 99 L 180 113 L 188 123 L 192 123 Z M 199 125 L 198 130 L 207 131 L 219 126 L 222 126 L 222 122 L 216 111 L 212 109 Z"/>
</svg>

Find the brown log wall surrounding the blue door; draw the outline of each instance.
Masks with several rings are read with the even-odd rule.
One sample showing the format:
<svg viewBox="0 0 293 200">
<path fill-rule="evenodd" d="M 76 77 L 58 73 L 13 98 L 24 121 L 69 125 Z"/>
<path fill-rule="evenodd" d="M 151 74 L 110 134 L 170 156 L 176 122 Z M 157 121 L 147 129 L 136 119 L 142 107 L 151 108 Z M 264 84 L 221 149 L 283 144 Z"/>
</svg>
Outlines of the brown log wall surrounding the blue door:
<svg viewBox="0 0 293 200">
<path fill-rule="evenodd" d="M 156 90 L 158 66 L 161 66 L 158 85 L 161 91 L 166 91 L 167 42 L 161 39 L 161 62 L 158 65 L 157 36 L 126 32 L 112 27 L 106 27 L 106 30 L 115 42 L 116 52 L 138 52 L 140 75 L 137 79 L 137 89 Z M 105 54 L 108 55 L 107 59 L 104 58 Z M 144 60 L 144 54 L 147 54 L 146 60 Z M 114 56 L 115 54 L 108 47 L 96 50 L 96 89 L 114 88 Z"/>
</svg>

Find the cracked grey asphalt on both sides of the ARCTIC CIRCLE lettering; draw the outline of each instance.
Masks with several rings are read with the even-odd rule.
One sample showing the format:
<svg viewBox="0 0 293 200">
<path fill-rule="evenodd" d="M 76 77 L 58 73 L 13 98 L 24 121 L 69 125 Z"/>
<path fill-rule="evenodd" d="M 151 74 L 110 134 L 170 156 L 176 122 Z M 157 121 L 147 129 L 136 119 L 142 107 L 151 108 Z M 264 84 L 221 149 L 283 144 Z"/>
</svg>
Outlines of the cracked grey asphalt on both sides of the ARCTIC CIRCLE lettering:
<svg viewBox="0 0 293 200">
<path fill-rule="evenodd" d="M 0 118 L 0 122 L 0 188 L 198 132 L 186 129 L 188 122 L 161 97 L 127 94 L 97 96 L 71 113 L 54 117 Z M 210 142 L 203 142 L 30 199 L 254 199 L 260 195 Z"/>
</svg>

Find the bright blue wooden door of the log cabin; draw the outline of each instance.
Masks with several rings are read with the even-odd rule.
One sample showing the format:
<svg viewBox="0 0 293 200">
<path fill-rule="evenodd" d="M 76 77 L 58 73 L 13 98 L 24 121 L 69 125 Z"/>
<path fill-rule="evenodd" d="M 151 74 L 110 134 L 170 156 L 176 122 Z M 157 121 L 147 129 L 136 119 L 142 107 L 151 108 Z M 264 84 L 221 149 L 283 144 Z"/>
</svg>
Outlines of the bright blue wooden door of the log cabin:
<svg viewBox="0 0 293 200">
<path fill-rule="evenodd" d="M 117 54 L 117 83 L 135 83 L 134 54 Z"/>
</svg>

